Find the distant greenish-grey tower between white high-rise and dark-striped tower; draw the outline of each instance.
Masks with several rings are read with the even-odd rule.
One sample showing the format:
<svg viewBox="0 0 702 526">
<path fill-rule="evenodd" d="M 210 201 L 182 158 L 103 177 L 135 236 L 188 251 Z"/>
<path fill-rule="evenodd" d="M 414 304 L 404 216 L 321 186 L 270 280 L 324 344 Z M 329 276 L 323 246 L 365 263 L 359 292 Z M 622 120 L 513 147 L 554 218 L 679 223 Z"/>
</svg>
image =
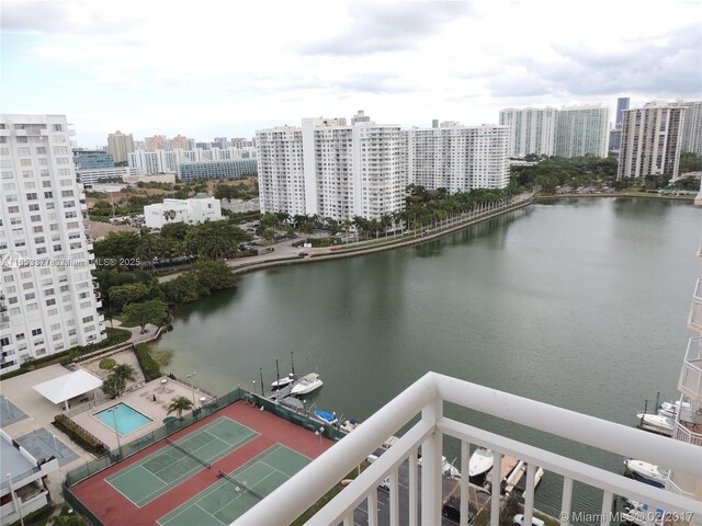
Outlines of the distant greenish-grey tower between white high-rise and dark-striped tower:
<svg viewBox="0 0 702 526">
<path fill-rule="evenodd" d="M 573 158 L 607 157 L 610 111 L 602 105 L 565 106 L 558 110 L 555 155 Z"/>
</svg>

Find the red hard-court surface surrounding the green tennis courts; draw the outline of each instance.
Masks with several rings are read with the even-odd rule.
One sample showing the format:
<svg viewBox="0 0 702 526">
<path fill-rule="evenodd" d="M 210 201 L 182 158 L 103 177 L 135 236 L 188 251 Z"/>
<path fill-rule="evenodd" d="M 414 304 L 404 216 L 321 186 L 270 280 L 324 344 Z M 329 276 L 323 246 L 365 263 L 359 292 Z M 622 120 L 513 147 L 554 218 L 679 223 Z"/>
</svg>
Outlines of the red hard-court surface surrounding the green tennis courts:
<svg viewBox="0 0 702 526">
<path fill-rule="evenodd" d="M 179 441 L 194 431 L 207 426 L 222 416 L 228 416 L 250 427 L 259 433 L 259 436 L 247 442 L 227 456 L 212 462 L 212 468 L 203 467 L 202 470 L 183 480 L 160 496 L 151 500 L 143 507 L 137 507 L 105 479 L 129 468 L 134 464 L 140 462 L 145 457 L 148 457 L 159 449 L 171 447 L 165 441 L 73 485 L 71 491 L 105 526 L 152 526 L 157 524 L 160 517 L 172 512 L 212 484 L 215 484 L 218 481 L 217 473 L 219 470 L 225 473 L 231 472 L 276 443 L 283 444 L 309 458 L 318 457 L 322 450 L 331 447 L 333 444 L 327 438 L 321 438 L 320 442 L 319 436 L 313 432 L 265 411 L 260 411 L 258 408 L 251 407 L 242 400 L 204 418 L 190 427 L 171 435 L 170 438 L 172 441 Z"/>
</svg>

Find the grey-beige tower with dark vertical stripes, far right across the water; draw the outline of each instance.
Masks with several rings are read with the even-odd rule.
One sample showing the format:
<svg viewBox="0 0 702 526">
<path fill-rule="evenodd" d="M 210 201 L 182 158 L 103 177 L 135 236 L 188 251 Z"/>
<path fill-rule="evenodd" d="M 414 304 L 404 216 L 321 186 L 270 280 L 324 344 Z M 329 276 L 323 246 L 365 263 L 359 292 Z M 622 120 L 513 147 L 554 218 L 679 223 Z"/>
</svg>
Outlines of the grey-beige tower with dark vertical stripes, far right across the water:
<svg viewBox="0 0 702 526">
<path fill-rule="evenodd" d="M 665 102 L 625 111 L 616 179 L 677 178 L 686 111 Z"/>
</svg>

